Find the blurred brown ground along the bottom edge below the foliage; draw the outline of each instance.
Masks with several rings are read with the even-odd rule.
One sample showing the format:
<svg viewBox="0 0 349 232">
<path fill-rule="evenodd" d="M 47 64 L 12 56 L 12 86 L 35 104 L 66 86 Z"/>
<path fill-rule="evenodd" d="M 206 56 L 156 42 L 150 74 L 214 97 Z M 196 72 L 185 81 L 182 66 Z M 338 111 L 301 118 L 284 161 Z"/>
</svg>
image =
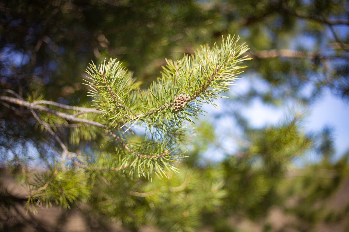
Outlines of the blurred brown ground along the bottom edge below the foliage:
<svg viewBox="0 0 349 232">
<path fill-rule="evenodd" d="M 323 182 L 317 190 L 314 189 L 314 183 L 309 183 L 314 179 L 313 174 L 316 174 L 317 178 L 321 178 L 321 182 Z M 195 231 L 347 231 L 349 179 L 347 177 L 337 186 L 330 184 L 333 178 L 338 178 L 334 170 L 320 169 L 312 174 L 305 174 L 304 170 L 288 172 L 286 177 L 282 179 L 284 182 L 282 188 L 286 187 L 287 191 L 294 191 L 295 188 L 290 188 L 290 185 L 299 185 L 298 188 L 312 189 L 313 194 L 303 190 L 298 190 L 292 195 L 282 192 L 285 195 L 274 195 L 272 199 L 269 199 L 273 203 L 268 204 L 268 207 L 263 209 L 265 210 L 261 212 L 263 217 L 255 217 L 257 215 L 254 215 L 251 218 L 247 215 L 241 215 L 240 212 L 235 212 L 233 216 L 228 218 L 222 217 L 221 214 L 211 215 L 205 218 L 204 226 L 195 229 Z M 299 182 L 299 179 L 302 181 Z M 8 174 L 4 175 L 3 172 L 1 183 L 6 185 L 7 189 L 12 190 L 7 194 L 2 192 L 2 203 L 5 200 L 10 201 L 12 207 L 1 213 L 1 231 L 132 231 L 132 229 L 127 229 L 127 226 L 121 226 L 115 220 L 110 220 L 103 216 L 103 213 L 101 215 L 91 206 L 82 203 L 69 210 L 62 210 L 59 206 L 54 206 L 48 209 L 38 208 L 36 214 L 30 211 L 26 213 L 23 209 L 23 205 L 26 203 L 25 196 L 28 194 L 25 189 L 18 186 L 13 177 L 9 177 Z M 258 183 L 253 183 L 253 185 L 258 186 Z M 311 185 L 311 187 L 305 187 L 307 185 Z M 330 189 L 333 188 L 335 191 L 332 193 Z M 246 194 L 245 192 L 241 195 L 248 198 L 251 195 L 255 196 L 255 194 L 257 193 L 248 192 Z M 15 198 L 10 197 L 11 195 Z M 280 202 L 280 199 L 283 203 Z M 240 197 L 238 203 L 246 204 L 243 202 L 244 200 Z M 249 201 L 252 203 L 258 200 L 250 199 Z M 264 205 L 264 201 L 259 203 L 259 207 L 263 207 L 261 204 Z M 185 210 L 181 214 L 186 215 L 187 212 Z M 178 214 L 178 212 L 176 213 Z M 159 229 L 158 226 L 147 223 L 140 225 L 137 231 L 166 231 L 166 229 Z"/>
</svg>

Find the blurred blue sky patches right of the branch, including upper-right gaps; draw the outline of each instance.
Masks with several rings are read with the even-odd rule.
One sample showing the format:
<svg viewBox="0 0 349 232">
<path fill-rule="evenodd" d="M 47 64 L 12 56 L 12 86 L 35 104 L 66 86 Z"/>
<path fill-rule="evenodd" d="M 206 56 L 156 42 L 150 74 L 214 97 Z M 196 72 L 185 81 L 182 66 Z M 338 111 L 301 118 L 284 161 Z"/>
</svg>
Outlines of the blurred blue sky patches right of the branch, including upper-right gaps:
<svg viewBox="0 0 349 232">
<path fill-rule="evenodd" d="M 303 21 L 299 21 L 298 30 L 301 32 L 305 26 Z M 335 25 L 334 30 L 341 40 L 344 40 L 348 35 L 349 29 L 348 26 Z M 326 28 L 326 36 L 324 35 L 323 42 L 335 41 L 333 34 L 329 28 Z M 310 34 L 300 34 L 295 38 L 289 38 L 289 49 L 297 50 L 298 45 L 302 45 L 303 48 L 306 48 L 310 51 L 317 50 L 316 39 Z M 287 48 L 287 47 L 285 47 Z M 320 51 L 324 54 L 327 52 L 327 47 L 321 47 Z M 258 74 L 257 74 L 258 75 Z M 243 95 L 246 93 L 253 81 L 253 85 L 257 85 L 258 89 L 268 90 L 268 86 L 261 78 L 253 78 L 251 75 L 242 74 L 244 79 L 236 80 L 236 86 L 231 87 L 231 91 L 228 95 Z M 306 85 L 304 88 L 304 96 L 307 93 L 311 92 L 312 83 L 309 82 L 309 85 Z M 216 101 L 217 105 L 221 108 L 226 107 L 224 99 L 218 99 Z M 229 100 L 228 100 L 229 101 Z M 295 102 L 285 102 L 282 106 L 276 107 L 271 105 L 264 104 L 260 99 L 254 99 L 252 104 L 245 105 L 236 105 L 235 107 L 240 107 L 240 112 L 248 119 L 250 125 L 255 128 L 262 128 L 266 125 L 273 125 L 278 122 L 282 122 L 283 117 L 287 115 L 290 109 L 294 108 L 297 103 Z M 222 149 L 217 149 L 217 147 L 210 147 L 204 156 L 210 160 L 221 160 L 224 157 L 225 153 L 234 153 L 240 149 L 240 146 L 244 143 L 241 139 L 242 133 L 239 131 L 239 128 L 236 126 L 236 121 L 232 120 L 231 117 L 223 117 L 219 120 L 213 118 L 213 114 L 210 112 L 216 112 L 215 107 L 210 105 L 205 105 L 203 108 L 205 111 L 209 112 L 207 115 L 208 121 L 213 121 L 216 128 L 216 134 L 221 134 L 221 137 L 218 138 L 219 142 L 223 146 Z M 307 133 L 317 133 L 321 131 L 325 126 L 332 128 L 334 145 L 336 149 L 334 159 L 338 159 L 341 155 L 349 149 L 349 102 L 345 102 L 342 99 L 334 96 L 328 89 L 323 91 L 322 95 L 318 97 L 311 105 L 306 107 L 306 110 L 309 112 L 307 117 L 304 120 L 303 126 Z M 218 133 L 217 133 L 218 132 Z M 245 141 L 246 142 L 246 141 Z M 303 162 L 315 162 L 318 158 L 316 154 L 309 154 L 307 157 L 301 161 Z M 298 161 L 297 161 L 298 162 Z"/>
</svg>

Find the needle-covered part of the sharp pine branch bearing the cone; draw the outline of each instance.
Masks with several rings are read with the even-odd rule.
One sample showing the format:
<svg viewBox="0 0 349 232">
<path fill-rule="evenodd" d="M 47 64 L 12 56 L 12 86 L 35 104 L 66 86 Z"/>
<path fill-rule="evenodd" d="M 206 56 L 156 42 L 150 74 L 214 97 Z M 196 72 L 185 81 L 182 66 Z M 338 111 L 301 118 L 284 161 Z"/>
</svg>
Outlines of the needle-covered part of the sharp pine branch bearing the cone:
<svg viewBox="0 0 349 232">
<path fill-rule="evenodd" d="M 170 162 L 181 158 L 176 147 L 186 135 L 186 122 L 202 114 L 201 104 L 215 105 L 214 99 L 222 97 L 219 94 L 229 90 L 246 68 L 240 64 L 250 59 L 243 56 L 248 48 L 237 45 L 238 40 L 229 35 L 221 46 L 202 46 L 192 56 L 166 60 L 162 76 L 147 90 L 140 90 L 131 72 L 116 59 L 89 65 L 89 94 L 120 146 L 116 152 L 124 157 L 121 165 L 129 163 L 131 173 L 137 171 L 139 176 L 152 170 L 166 176 L 164 169 L 176 170 Z M 145 127 L 144 142 L 128 141 L 126 133 L 134 127 Z"/>
</svg>

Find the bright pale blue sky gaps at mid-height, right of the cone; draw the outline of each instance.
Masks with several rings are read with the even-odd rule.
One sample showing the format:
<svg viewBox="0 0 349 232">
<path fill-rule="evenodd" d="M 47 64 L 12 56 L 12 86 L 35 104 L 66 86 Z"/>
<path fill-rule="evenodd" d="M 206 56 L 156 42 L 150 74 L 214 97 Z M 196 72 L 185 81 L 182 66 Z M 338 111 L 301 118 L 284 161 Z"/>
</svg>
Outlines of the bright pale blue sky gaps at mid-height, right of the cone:
<svg viewBox="0 0 349 232">
<path fill-rule="evenodd" d="M 232 94 L 242 94 L 250 87 L 248 78 L 239 79 L 237 85 L 231 87 Z M 221 108 L 225 107 L 225 99 L 218 99 L 217 105 Z M 261 100 L 255 99 L 252 104 L 243 106 L 242 114 L 248 119 L 250 125 L 255 128 L 262 128 L 266 125 L 274 125 L 282 122 L 284 116 L 288 114 L 290 109 L 294 109 L 297 104 L 295 102 L 285 103 L 280 107 L 263 104 Z M 241 105 L 236 105 L 241 107 Z M 298 107 L 302 108 L 302 107 Z M 349 149 L 349 103 L 334 96 L 329 90 L 325 90 L 317 101 L 306 107 L 309 112 L 305 117 L 303 126 L 308 133 L 319 132 L 325 126 L 333 129 L 333 138 L 336 149 L 334 159 L 338 159 Z M 237 152 L 244 144 L 244 139 L 240 137 L 241 131 L 236 126 L 236 122 L 231 117 L 222 117 L 218 120 L 213 118 L 213 114 L 217 113 L 217 109 L 212 105 L 205 105 L 204 110 L 208 112 L 206 120 L 214 123 L 216 135 L 223 149 L 211 146 L 205 152 L 204 157 L 209 160 L 219 161 L 224 158 L 224 152 Z M 203 117 L 202 119 L 205 119 Z M 304 162 L 316 162 L 316 154 L 308 154 L 302 160 L 297 161 L 297 166 L 301 166 Z"/>
</svg>

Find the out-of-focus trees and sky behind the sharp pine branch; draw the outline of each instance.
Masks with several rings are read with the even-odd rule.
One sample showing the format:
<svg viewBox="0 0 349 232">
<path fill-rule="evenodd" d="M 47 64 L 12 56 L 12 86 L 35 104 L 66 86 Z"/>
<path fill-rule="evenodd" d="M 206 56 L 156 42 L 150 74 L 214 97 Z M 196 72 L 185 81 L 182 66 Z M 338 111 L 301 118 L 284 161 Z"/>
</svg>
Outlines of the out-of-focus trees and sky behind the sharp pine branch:
<svg viewBox="0 0 349 232">
<path fill-rule="evenodd" d="M 22 210 L 23 172 L 54 142 L 30 114 L 0 105 L 2 231 L 349 231 L 349 4 L 335 0 L 1 1 L 0 88 L 87 106 L 84 70 L 118 58 L 142 88 L 165 57 L 228 34 L 250 66 L 183 144 L 170 179 L 95 173 L 70 210 Z M 69 141 L 98 155 L 102 135 Z M 17 168 L 16 168 L 17 167 Z M 112 178 L 110 178 L 112 176 Z M 17 177 L 16 180 L 14 177 Z"/>
</svg>

